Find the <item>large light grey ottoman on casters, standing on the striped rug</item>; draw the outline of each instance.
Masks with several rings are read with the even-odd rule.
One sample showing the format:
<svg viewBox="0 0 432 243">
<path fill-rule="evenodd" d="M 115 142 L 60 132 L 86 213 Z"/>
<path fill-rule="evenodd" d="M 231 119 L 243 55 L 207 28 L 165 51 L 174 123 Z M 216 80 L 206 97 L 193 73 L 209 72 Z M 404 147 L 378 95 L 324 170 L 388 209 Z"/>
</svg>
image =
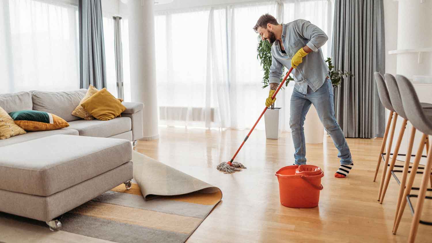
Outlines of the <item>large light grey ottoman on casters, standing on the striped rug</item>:
<svg viewBox="0 0 432 243">
<path fill-rule="evenodd" d="M 0 211 L 46 221 L 133 178 L 128 140 L 54 135 L 0 147 Z"/>
</svg>

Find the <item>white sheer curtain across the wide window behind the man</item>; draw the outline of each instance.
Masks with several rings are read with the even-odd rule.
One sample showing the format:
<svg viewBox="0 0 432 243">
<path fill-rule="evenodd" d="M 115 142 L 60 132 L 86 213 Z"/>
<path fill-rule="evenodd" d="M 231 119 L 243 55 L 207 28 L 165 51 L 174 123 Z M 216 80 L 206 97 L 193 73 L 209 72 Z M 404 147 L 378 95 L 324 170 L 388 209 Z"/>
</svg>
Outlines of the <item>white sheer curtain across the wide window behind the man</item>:
<svg viewBox="0 0 432 243">
<path fill-rule="evenodd" d="M 284 23 L 283 19 L 303 18 L 316 25 L 319 22 L 319 27 L 327 25 L 322 22 L 328 14 L 324 2 L 331 6 L 327 0 L 296 0 L 294 6 L 268 1 L 156 13 L 160 124 L 239 129 L 253 126 L 264 108 L 268 89 L 261 88 L 258 35 L 252 27 L 264 13 Z M 299 13 L 289 14 L 294 7 L 299 8 Z M 306 11 L 301 9 L 306 7 L 317 13 L 303 14 Z M 193 31 L 185 32 L 186 27 Z M 326 28 L 323 30 L 330 34 Z M 286 111 L 291 92 L 292 84 L 276 101 L 276 106 L 285 110 L 285 130 L 289 129 Z M 264 119 L 257 129 L 264 129 Z"/>
</svg>

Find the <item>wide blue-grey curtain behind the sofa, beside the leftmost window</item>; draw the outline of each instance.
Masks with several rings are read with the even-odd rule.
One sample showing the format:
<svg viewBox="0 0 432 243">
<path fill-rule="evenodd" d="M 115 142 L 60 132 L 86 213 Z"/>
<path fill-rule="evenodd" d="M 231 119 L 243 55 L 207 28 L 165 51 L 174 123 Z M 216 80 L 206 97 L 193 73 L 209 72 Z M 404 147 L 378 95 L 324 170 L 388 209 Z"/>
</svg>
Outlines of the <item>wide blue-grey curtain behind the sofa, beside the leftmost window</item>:
<svg viewBox="0 0 432 243">
<path fill-rule="evenodd" d="M 79 86 L 105 88 L 105 47 L 101 0 L 79 0 Z"/>
</svg>

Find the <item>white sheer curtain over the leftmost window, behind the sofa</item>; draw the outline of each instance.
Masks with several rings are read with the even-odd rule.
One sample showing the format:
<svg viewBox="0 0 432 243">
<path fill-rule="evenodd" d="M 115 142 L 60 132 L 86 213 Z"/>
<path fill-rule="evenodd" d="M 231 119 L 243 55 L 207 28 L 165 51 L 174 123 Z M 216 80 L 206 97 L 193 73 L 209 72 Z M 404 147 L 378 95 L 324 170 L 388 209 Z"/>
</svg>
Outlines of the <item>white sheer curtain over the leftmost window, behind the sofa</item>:
<svg viewBox="0 0 432 243">
<path fill-rule="evenodd" d="M 0 1 L 2 93 L 79 88 L 78 6 L 70 2 Z"/>
</svg>

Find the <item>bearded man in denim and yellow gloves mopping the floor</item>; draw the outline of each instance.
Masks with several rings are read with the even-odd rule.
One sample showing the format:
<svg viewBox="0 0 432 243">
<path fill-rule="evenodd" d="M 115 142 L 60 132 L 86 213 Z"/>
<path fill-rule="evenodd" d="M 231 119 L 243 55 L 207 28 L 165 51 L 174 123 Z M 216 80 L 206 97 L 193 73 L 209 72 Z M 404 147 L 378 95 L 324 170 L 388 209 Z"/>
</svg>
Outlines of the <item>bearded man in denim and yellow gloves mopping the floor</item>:
<svg viewBox="0 0 432 243">
<path fill-rule="evenodd" d="M 295 164 L 306 164 L 306 144 L 303 124 L 311 104 L 314 104 L 321 122 L 339 150 L 340 167 L 334 174 L 337 178 L 348 176 L 354 164 L 342 129 L 334 116 L 334 94 L 329 69 L 324 61 L 321 46 L 328 37 L 316 25 L 304 19 L 279 24 L 270 14 L 261 16 L 254 27 L 262 40 L 272 44 L 270 67 L 270 92 L 266 99 L 269 107 L 282 76 L 282 66 L 293 67 L 294 91 L 291 95 L 290 119 L 294 142 Z"/>
</svg>

